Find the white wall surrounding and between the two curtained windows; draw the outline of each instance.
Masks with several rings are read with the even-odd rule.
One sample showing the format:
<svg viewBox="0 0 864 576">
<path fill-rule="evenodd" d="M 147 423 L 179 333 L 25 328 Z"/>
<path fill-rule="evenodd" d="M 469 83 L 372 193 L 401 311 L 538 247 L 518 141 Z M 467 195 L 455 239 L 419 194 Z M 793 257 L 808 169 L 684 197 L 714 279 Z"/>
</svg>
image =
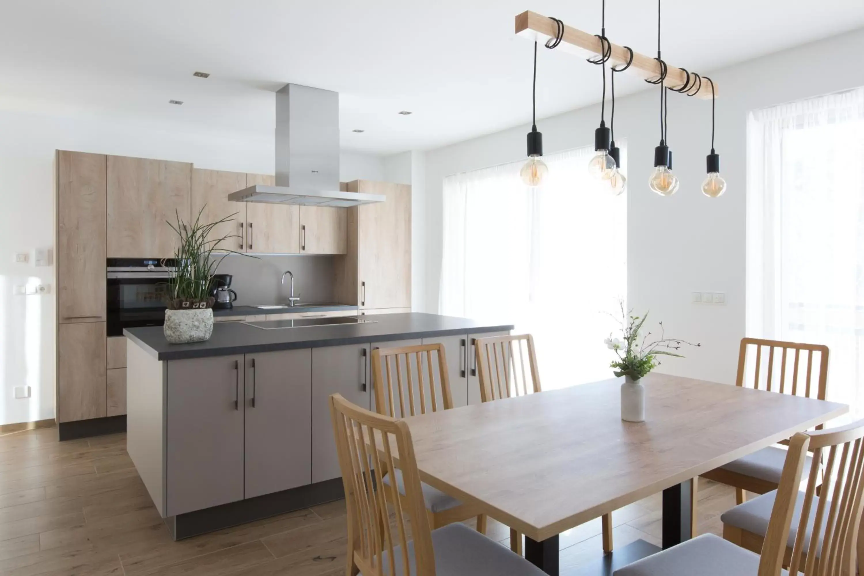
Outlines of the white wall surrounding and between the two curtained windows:
<svg viewBox="0 0 864 576">
<path fill-rule="evenodd" d="M 664 362 L 662 371 L 734 382 L 745 318 L 746 115 L 772 104 L 864 85 L 864 67 L 849 66 L 837 54 L 864 54 L 864 30 L 709 74 L 720 94 L 716 149 L 721 155 L 721 174 L 728 181 L 727 193 L 720 199 L 708 199 L 700 190 L 705 155 L 710 148 L 709 101 L 670 94 L 669 144 L 682 186 L 675 196 L 663 198 L 647 187 L 653 149 L 659 140 L 659 88 L 618 100 L 616 136 L 626 138 L 630 163 L 626 167 L 630 179 L 629 304 L 639 313 L 650 310 L 654 320 L 663 320 L 667 334 L 702 342 L 701 349 L 685 351 L 688 358 Z M 675 61 L 672 54 L 668 57 Z M 575 62 L 574 66 L 578 65 Z M 588 68 L 584 72 L 588 74 Z M 544 151 L 550 154 L 592 144 L 599 121 L 599 105 L 539 121 Z M 520 126 L 427 152 L 427 311 L 436 312 L 438 307 L 442 179 L 448 174 L 524 158 L 525 133 L 529 129 Z M 591 246 L 562 248 L 562 266 L 568 265 L 568 255 L 576 250 L 602 250 L 602 238 Z M 499 281 L 509 282 L 505 271 Z M 725 292 L 727 304 L 691 304 L 692 291 Z M 566 286 L 561 287 L 561 304 L 562 311 L 566 311 Z M 603 334 L 597 338 L 603 338 Z"/>
</svg>

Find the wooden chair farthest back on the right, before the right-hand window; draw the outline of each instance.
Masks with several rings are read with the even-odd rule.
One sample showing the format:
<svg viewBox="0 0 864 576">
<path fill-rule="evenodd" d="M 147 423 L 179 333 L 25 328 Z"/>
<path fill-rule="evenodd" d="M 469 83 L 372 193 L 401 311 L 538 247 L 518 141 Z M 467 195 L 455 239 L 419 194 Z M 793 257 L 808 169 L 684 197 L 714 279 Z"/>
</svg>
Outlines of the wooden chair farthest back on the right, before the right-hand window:
<svg viewBox="0 0 864 576">
<path fill-rule="evenodd" d="M 752 366 L 748 366 L 748 353 L 751 351 L 755 352 L 755 355 L 750 357 L 753 358 Z M 828 382 L 828 358 L 828 346 L 825 345 L 741 339 L 735 385 L 824 400 Z M 816 427 L 820 428 L 822 425 Z M 783 448 L 769 446 L 706 472 L 702 474 L 702 478 L 734 486 L 735 502 L 740 504 L 745 500 L 746 491 L 765 494 L 777 490 L 785 456 Z M 807 465 L 810 465 L 809 462 Z M 690 525 L 693 527 L 693 535 L 696 535 L 695 482 L 693 495 L 693 518 Z"/>
</svg>

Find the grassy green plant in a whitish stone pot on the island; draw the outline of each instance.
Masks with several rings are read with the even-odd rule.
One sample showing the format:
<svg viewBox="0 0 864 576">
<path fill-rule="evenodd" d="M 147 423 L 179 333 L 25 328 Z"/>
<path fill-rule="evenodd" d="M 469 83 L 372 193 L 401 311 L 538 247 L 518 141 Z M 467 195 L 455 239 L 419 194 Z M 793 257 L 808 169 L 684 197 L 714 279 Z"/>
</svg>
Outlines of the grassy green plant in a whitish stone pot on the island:
<svg viewBox="0 0 864 576">
<path fill-rule="evenodd" d="M 220 258 L 213 258 L 213 252 L 219 248 L 219 244 L 237 235 L 210 238 L 213 229 L 232 221 L 236 212 L 209 224 L 201 222 L 202 212 L 203 206 L 189 225 L 181 221 L 179 213 L 176 223 L 166 221 L 179 237 L 174 252 L 176 267 L 165 267 L 170 276 L 163 330 L 165 339 L 171 344 L 203 342 L 213 335 L 213 274 L 228 254 L 240 254 L 234 250 L 219 249 L 220 253 L 225 253 Z M 162 265 L 165 266 L 164 261 Z"/>
</svg>

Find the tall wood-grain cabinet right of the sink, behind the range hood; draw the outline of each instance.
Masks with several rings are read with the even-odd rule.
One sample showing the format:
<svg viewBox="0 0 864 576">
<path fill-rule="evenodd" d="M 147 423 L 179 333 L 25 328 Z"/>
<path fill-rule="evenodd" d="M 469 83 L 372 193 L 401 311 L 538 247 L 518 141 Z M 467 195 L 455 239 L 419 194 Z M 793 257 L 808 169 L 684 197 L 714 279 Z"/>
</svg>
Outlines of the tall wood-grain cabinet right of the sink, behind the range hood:
<svg viewBox="0 0 864 576">
<path fill-rule="evenodd" d="M 367 313 L 410 311 L 411 187 L 354 180 L 346 188 L 386 200 L 348 209 L 347 254 L 337 264 L 337 293 Z"/>
</svg>

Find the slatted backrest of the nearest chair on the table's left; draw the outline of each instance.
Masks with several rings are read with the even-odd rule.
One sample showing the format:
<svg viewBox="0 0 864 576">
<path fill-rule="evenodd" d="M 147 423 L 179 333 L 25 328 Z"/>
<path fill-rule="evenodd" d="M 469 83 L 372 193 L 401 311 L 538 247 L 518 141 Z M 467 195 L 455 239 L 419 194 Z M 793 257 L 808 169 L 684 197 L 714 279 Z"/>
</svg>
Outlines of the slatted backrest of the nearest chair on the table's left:
<svg viewBox="0 0 864 576">
<path fill-rule="evenodd" d="M 338 394 L 330 396 L 330 416 L 345 487 L 346 573 L 435 576 L 429 518 L 408 426 L 355 406 Z M 396 482 L 382 481 L 385 472 L 397 468 L 403 477 L 402 496 Z M 413 567 L 408 554 L 409 534 Z"/>
</svg>

